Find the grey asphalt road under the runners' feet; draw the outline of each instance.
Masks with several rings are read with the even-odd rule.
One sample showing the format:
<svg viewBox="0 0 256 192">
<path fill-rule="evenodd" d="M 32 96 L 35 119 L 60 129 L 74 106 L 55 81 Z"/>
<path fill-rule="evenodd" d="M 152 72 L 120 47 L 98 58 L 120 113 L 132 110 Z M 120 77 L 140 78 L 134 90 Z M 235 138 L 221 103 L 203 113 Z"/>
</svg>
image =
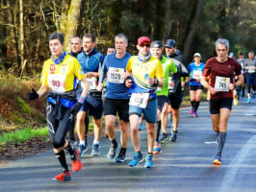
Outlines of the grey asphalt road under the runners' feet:
<svg viewBox="0 0 256 192">
<path fill-rule="evenodd" d="M 82 159 L 83 169 L 72 173 L 72 180 L 52 180 L 61 169 L 53 152 L 48 151 L 1 167 L 0 191 L 255 192 L 255 104 L 253 101 L 248 105 L 243 99 L 239 106 L 233 107 L 221 166 L 212 164 L 217 153 L 216 133 L 212 131 L 208 104 L 203 103 L 197 118 L 189 114 L 189 108 L 181 110 L 177 141 L 162 145 L 163 154 L 154 156 L 153 169 L 143 168 L 143 163 L 136 168 L 128 166 L 133 155 L 131 142 L 124 163 L 108 159 L 110 142 L 101 138 L 101 156 L 90 156 L 89 151 Z M 141 131 L 143 154 L 146 146 L 144 130 Z M 67 160 L 70 165 L 68 156 Z"/>
</svg>

